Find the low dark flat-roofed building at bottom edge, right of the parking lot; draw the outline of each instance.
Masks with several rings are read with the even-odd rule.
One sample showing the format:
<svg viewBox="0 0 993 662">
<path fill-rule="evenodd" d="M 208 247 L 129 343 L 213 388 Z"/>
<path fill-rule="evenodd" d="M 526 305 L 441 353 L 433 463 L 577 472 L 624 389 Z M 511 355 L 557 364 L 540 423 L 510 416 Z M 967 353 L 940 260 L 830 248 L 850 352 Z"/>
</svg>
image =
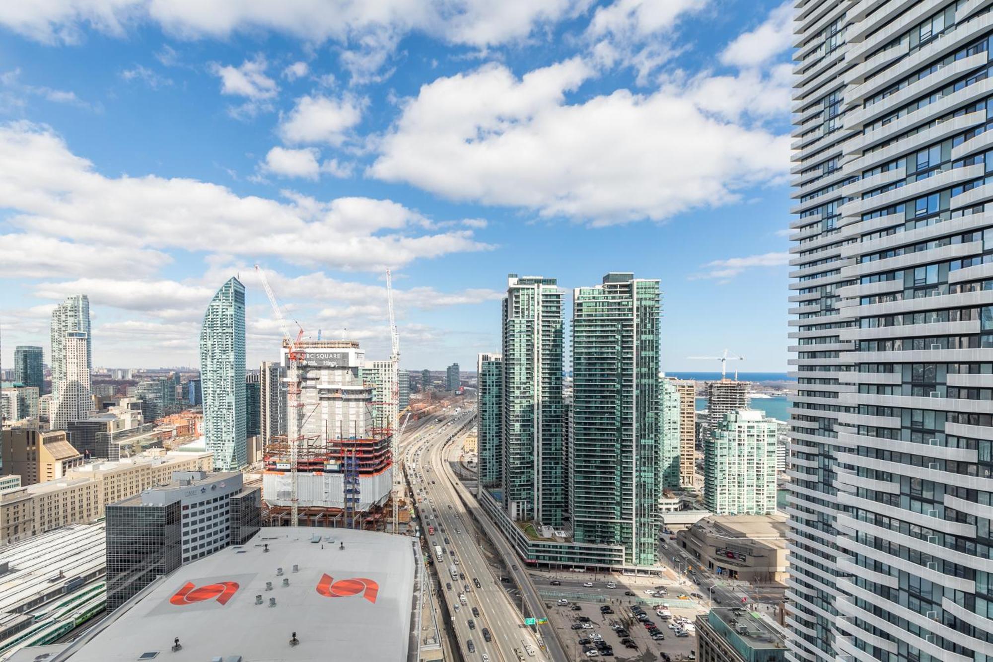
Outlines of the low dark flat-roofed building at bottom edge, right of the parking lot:
<svg viewBox="0 0 993 662">
<path fill-rule="evenodd" d="M 776 621 L 740 607 L 696 617 L 698 662 L 784 662 L 785 631 Z"/>
</svg>

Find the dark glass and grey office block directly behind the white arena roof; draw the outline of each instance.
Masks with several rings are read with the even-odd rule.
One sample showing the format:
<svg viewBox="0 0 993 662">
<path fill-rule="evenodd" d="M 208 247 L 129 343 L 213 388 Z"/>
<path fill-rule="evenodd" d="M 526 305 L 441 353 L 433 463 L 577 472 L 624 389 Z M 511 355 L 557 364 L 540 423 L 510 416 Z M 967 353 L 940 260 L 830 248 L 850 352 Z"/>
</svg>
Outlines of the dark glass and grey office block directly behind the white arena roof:
<svg viewBox="0 0 993 662">
<path fill-rule="evenodd" d="M 240 473 L 174 471 L 166 485 L 106 507 L 107 610 L 160 576 L 258 532 L 258 487 Z"/>
</svg>

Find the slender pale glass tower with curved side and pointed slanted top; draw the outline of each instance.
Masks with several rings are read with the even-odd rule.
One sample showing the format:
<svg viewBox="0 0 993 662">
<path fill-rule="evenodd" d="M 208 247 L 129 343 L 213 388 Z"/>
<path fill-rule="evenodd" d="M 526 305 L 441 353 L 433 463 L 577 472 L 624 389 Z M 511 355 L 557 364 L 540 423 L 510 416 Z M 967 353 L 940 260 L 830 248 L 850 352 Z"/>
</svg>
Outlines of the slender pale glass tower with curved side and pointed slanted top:
<svg viewBox="0 0 993 662">
<path fill-rule="evenodd" d="M 213 295 L 200 332 L 204 435 L 219 471 L 245 465 L 245 288 L 231 277 Z"/>
</svg>

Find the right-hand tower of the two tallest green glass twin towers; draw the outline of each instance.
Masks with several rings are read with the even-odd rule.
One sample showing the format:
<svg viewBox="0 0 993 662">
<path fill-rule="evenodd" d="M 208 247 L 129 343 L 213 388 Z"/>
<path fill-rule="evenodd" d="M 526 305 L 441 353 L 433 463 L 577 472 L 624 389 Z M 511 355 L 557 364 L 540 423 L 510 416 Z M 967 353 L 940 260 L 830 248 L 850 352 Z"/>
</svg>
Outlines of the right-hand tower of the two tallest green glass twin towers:
<svg viewBox="0 0 993 662">
<path fill-rule="evenodd" d="M 638 565 L 658 557 L 660 314 L 659 281 L 633 273 L 573 292 L 574 540 L 624 545 Z"/>
</svg>

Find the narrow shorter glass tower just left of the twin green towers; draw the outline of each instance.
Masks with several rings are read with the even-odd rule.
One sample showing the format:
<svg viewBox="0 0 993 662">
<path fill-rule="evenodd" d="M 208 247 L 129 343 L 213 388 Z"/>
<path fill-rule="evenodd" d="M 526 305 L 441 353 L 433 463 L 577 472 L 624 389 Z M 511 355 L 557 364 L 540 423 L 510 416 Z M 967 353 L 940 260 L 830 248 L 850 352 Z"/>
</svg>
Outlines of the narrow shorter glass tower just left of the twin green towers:
<svg viewBox="0 0 993 662">
<path fill-rule="evenodd" d="M 477 436 L 480 487 L 497 487 L 501 468 L 501 414 L 503 406 L 503 359 L 499 354 L 480 354 L 476 360 Z"/>
</svg>

